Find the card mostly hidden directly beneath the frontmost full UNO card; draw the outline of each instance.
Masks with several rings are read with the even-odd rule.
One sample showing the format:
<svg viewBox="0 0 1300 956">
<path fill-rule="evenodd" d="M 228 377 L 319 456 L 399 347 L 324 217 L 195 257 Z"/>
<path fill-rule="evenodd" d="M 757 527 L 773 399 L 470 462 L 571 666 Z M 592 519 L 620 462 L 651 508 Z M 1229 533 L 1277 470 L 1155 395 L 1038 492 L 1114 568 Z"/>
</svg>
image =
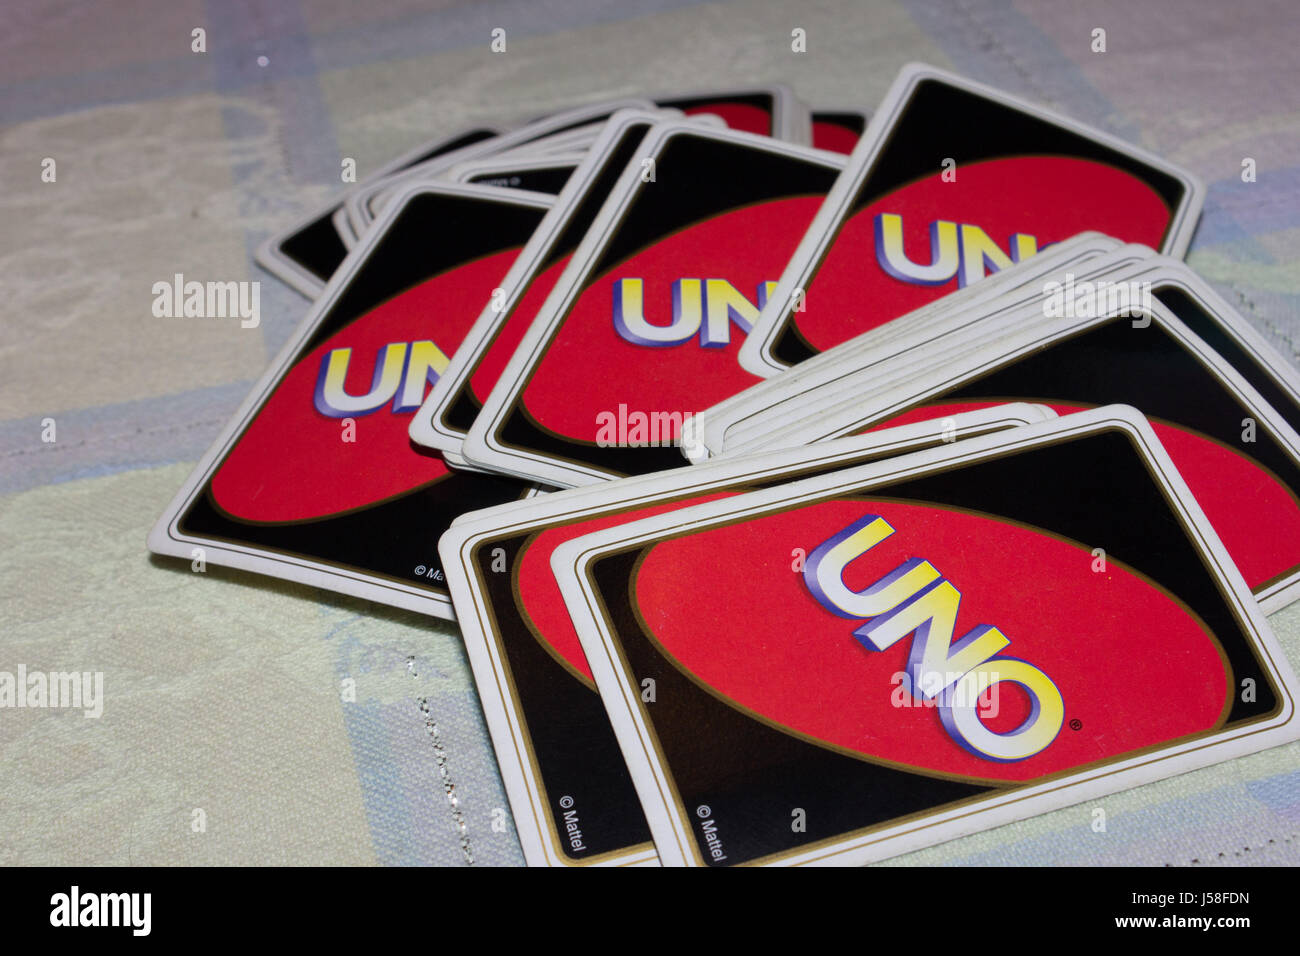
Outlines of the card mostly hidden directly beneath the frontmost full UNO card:
<svg viewBox="0 0 1300 956">
<path fill-rule="evenodd" d="M 701 501 L 1041 421 L 1002 406 L 826 445 L 556 492 L 458 519 L 438 550 L 532 865 L 655 858 L 632 779 L 550 571 L 573 537 Z"/>
</svg>

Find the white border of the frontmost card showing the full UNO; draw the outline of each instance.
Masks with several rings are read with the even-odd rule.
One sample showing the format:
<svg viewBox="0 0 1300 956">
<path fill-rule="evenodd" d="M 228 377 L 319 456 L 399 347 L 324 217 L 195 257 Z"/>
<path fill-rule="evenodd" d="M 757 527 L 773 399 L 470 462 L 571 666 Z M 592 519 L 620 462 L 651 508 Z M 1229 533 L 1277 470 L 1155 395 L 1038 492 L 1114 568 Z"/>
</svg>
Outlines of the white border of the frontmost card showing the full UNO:
<svg viewBox="0 0 1300 956">
<path fill-rule="evenodd" d="M 1295 676 L 1286 654 L 1278 646 L 1268 622 L 1251 597 L 1245 581 L 1242 580 L 1236 567 L 1223 550 L 1223 545 L 1209 527 L 1200 506 L 1178 475 L 1173 462 L 1169 460 L 1169 455 L 1160 445 L 1154 432 L 1150 431 L 1147 420 L 1128 406 L 1102 406 L 1037 425 L 1024 425 L 1010 432 L 970 438 L 948 449 L 918 451 L 883 463 L 836 472 L 833 481 L 811 479 L 618 525 L 575 538 L 555 550 L 551 567 L 560 581 L 560 589 L 577 626 L 584 652 L 601 689 L 601 697 L 619 736 L 624 758 L 628 761 L 637 793 L 650 821 L 651 832 L 655 835 L 660 861 L 666 866 L 699 865 L 702 857 L 694 849 L 693 834 L 682 823 L 684 814 L 679 814 L 662 797 L 663 792 L 672 790 L 671 779 L 664 774 L 658 757 L 654 756 L 655 748 L 650 745 L 649 731 L 638 717 L 637 704 L 629 700 L 628 684 L 623 680 L 618 665 L 614 662 L 618 649 L 612 646 L 608 630 L 599 615 L 592 611 L 592 606 L 598 601 L 588 576 L 593 561 L 604 553 L 645 544 L 672 531 L 708 527 L 714 522 L 758 511 L 771 503 L 798 506 L 816 499 L 832 498 L 849 490 L 868 490 L 878 484 L 897 483 L 926 473 L 939 464 L 972 462 L 982 457 L 1023 450 L 1039 444 L 1109 428 L 1126 432 L 1136 446 L 1145 451 L 1153 479 L 1162 488 L 1171 509 L 1182 519 L 1193 546 L 1201 551 L 1202 558 L 1209 558 L 1210 563 L 1218 567 L 1219 580 L 1227 585 L 1225 598 L 1228 606 L 1247 633 L 1256 639 L 1260 658 L 1278 685 L 1279 713 L 1238 731 L 1118 761 L 1118 769 L 1115 769 L 1117 765 L 1108 765 L 1061 777 L 1045 784 L 1017 787 L 1010 792 L 994 793 L 923 819 L 913 819 L 907 823 L 872 830 L 857 836 L 849 835 L 826 840 L 774 862 L 779 865 L 872 862 L 1210 766 L 1231 757 L 1254 753 L 1300 736 L 1300 726 L 1296 726 L 1297 722 L 1294 719 Z M 640 689 L 638 685 L 637 689 Z M 644 760 L 642 754 L 649 754 L 649 758 Z M 1175 760 L 1176 763 L 1160 765 L 1160 761 L 1167 760 Z M 1165 766 L 1174 769 L 1165 773 Z M 1102 771 L 1113 778 L 1112 782 L 1102 782 Z M 1065 799 L 1062 800 L 1058 793 L 1063 793 Z"/>
</svg>

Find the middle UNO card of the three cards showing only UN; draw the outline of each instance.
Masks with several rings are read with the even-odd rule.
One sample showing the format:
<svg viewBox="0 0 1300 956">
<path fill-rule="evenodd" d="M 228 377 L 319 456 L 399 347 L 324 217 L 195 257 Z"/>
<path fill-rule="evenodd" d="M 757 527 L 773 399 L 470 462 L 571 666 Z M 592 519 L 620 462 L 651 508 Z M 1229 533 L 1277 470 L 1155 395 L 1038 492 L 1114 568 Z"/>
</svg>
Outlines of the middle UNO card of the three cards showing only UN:
<svg viewBox="0 0 1300 956">
<path fill-rule="evenodd" d="M 555 485 L 680 464 L 689 418 L 755 384 L 740 338 L 841 163 L 686 122 L 650 130 L 462 454 Z"/>
</svg>

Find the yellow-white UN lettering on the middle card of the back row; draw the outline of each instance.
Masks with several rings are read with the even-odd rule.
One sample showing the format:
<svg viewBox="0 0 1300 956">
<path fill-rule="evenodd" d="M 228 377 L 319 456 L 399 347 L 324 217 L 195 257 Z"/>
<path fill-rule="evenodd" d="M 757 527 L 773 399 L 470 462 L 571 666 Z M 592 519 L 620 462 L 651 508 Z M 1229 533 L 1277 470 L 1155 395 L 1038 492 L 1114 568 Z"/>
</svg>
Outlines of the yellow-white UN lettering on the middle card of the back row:
<svg viewBox="0 0 1300 956">
<path fill-rule="evenodd" d="M 759 282 L 757 302 L 725 278 L 679 278 L 672 284 L 672 323 L 646 321 L 645 282 L 620 278 L 614 282 L 614 329 L 633 345 L 650 349 L 682 345 L 697 334 L 702 349 L 723 349 L 731 342 L 731 326 L 749 334 L 767 304 L 776 282 Z"/>
</svg>

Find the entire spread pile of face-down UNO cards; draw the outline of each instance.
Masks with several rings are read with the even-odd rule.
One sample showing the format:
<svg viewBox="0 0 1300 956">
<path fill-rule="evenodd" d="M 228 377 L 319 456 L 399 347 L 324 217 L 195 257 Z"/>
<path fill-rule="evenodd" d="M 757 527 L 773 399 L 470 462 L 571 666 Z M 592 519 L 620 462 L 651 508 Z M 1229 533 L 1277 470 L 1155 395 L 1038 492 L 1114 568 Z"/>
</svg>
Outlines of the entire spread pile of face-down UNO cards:
<svg viewBox="0 0 1300 956">
<path fill-rule="evenodd" d="M 928 66 L 428 143 L 150 537 L 455 619 L 532 864 L 863 862 L 1294 740 L 1300 376 L 1186 172 Z"/>
</svg>

